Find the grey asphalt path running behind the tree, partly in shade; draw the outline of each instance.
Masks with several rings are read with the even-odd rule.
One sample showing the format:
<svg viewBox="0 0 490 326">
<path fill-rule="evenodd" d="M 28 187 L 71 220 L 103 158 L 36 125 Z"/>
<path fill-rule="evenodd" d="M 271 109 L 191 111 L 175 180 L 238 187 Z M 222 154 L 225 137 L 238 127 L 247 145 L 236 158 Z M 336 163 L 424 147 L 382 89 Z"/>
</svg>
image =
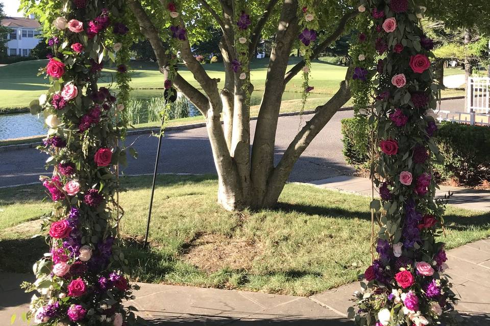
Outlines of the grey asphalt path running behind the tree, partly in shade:
<svg viewBox="0 0 490 326">
<path fill-rule="evenodd" d="M 442 110 L 463 111 L 462 100 L 442 102 Z M 354 172 L 342 155 L 340 120 L 353 116 L 352 111 L 337 112 L 327 126 L 311 142 L 297 161 L 289 181 L 307 182 Z M 276 162 L 295 137 L 298 129 L 312 115 L 280 117 L 276 133 Z M 256 121 L 251 121 L 251 133 Z M 126 144 L 134 142 L 138 159 L 130 158 L 124 174 L 153 173 L 158 139 L 150 134 L 128 137 Z M 44 162 L 47 155 L 37 149 L 20 149 L 0 152 L 0 186 L 31 183 L 40 175 L 49 175 Z M 206 128 L 168 131 L 162 141 L 159 173 L 215 174 L 211 146 Z"/>
</svg>

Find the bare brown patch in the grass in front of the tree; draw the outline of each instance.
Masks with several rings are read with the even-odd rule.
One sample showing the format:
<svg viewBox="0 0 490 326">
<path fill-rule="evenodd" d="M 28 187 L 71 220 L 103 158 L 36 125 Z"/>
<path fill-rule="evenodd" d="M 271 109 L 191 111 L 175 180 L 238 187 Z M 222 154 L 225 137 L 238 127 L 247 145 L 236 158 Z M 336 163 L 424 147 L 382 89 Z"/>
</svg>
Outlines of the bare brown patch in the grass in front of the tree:
<svg viewBox="0 0 490 326">
<path fill-rule="evenodd" d="M 225 267 L 251 269 L 254 259 L 262 251 L 261 246 L 254 242 L 206 234 L 190 243 L 182 259 L 212 273 Z"/>
</svg>

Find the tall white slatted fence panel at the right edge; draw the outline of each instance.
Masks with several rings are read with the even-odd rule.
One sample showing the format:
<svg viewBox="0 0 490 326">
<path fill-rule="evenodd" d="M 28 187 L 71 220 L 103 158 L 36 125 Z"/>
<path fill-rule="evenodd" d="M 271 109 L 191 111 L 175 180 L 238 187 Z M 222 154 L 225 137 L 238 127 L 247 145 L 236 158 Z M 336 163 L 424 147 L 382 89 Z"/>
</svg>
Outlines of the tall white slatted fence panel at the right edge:
<svg viewBox="0 0 490 326">
<path fill-rule="evenodd" d="M 469 77 L 466 94 L 467 112 L 490 113 L 490 78 Z"/>
</svg>

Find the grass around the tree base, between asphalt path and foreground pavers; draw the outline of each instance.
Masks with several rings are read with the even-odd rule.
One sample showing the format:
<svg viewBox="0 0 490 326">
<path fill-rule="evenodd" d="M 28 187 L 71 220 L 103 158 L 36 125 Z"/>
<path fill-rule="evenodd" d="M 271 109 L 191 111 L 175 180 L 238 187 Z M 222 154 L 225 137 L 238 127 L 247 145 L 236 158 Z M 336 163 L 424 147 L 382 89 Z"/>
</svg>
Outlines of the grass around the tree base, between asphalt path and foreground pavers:
<svg viewBox="0 0 490 326">
<path fill-rule="evenodd" d="M 228 212 L 214 176 L 159 176 L 151 250 L 141 249 L 151 177 L 123 178 L 122 232 L 133 280 L 308 295 L 370 263 L 369 198 L 287 184 L 274 210 Z M 29 273 L 46 244 L 41 186 L 0 189 L 0 268 Z M 490 235 L 490 214 L 449 207 L 448 248 Z M 30 222 L 29 222 L 30 221 Z M 18 253 L 22 259 L 18 259 Z"/>
</svg>

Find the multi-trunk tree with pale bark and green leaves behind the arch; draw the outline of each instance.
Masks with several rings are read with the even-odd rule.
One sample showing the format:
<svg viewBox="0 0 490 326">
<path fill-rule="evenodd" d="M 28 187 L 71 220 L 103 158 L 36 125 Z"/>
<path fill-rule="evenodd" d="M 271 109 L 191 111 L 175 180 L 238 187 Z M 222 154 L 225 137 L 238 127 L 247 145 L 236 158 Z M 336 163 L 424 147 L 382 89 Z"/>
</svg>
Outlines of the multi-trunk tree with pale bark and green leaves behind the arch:
<svg viewBox="0 0 490 326">
<path fill-rule="evenodd" d="M 335 95 L 316 108 L 275 164 L 276 129 L 285 87 L 298 73 L 305 74 L 307 96 L 309 59 L 348 30 L 358 14 L 357 5 L 330 0 L 128 0 L 128 4 L 142 35 L 152 44 L 165 79 L 173 79 L 173 85 L 206 120 L 219 178 L 219 203 L 227 209 L 274 206 L 295 162 L 351 97 L 349 83 L 342 82 Z M 223 88 L 193 53 L 194 42 L 206 39 L 205 31 L 212 25 L 222 34 Z M 251 144 L 250 93 L 258 85 L 250 84 L 250 60 L 262 38 L 273 39 L 274 46 L 265 85 L 260 86 L 264 95 Z M 288 69 L 291 50 L 298 42 L 306 60 Z M 200 89 L 174 70 L 177 53 Z"/>
</svg>

